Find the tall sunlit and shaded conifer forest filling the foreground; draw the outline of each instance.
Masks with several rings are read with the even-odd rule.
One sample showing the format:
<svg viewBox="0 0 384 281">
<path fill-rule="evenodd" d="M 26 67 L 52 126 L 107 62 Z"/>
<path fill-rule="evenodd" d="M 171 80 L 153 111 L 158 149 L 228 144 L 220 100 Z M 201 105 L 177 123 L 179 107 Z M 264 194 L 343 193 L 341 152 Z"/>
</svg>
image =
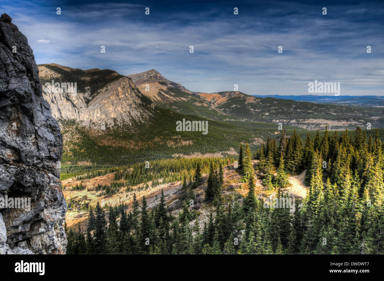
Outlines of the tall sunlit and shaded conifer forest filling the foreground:
<svg viewBox="0 0 384 281">
<path fill-rule="evenodd" d="M 129 209 L 97 203 L 87 208 L 86 231 L 66 228 L 67 254 L 383 253 L 384 145 L 378 131 L 368 136 L 360 128 L 352 134 L 326 130 L 305 139 L 283 131 L 278 141 L 268 137 L 253 152 L 241 143 L 237 159 L 172 160 L 169 165 L 163 160 L 152 172 L 145 164 L 116 171 L 116 179 L 128 186 L 147 180 L 156 185 L 160 176 L 155 174 L 169 178 L 177 172 L 173 180 L 182 180 L 182 210 L 167 212 L 163 192 L 153 208 L 147 208 L 146 197 L 139 202 L 136 196 Z M 240 175 L 245 196 L 224 181 L 225 166 Z M 307 195 L 296 198 L 293 209 L 265 200 L 273 195 L 290 201 L 284 192 L 287 179 L 304 170 Z M 201 186 L 204 205 L 197 209 L 195 190 Z M 210 213 L 203 217 L 206 207 Z"/>
</svg>

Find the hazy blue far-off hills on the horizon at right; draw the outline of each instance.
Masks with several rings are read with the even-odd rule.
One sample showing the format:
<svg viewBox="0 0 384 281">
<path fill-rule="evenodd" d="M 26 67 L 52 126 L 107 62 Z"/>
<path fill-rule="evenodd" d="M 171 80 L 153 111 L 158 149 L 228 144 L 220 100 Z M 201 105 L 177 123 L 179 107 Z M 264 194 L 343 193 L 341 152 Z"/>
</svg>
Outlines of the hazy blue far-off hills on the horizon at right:
<svg viewBox="0 0 384 281">
<path fill-rule="evenodd" d="M 315 103 L 330 103 L 346 106 L 384 107 L 384 96 L 282 96 L 282 95 L 254 95 L 259 98 L 291 99 L 293 101 L 308 101 Z"/>
</svg>

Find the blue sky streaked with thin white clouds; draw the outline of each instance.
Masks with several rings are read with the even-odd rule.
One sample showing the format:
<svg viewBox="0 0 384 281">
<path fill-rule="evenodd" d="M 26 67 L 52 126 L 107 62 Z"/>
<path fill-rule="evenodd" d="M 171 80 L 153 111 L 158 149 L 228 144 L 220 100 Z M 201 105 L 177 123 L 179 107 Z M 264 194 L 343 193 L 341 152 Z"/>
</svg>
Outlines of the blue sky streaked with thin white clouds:
<svg viewBox="0 0 384 281">
<path fill-rule="evenodd" d="M 340 82 L 341 96 L 384 95 L 382 1 L 177 2 L 13 0 L 0 12 L 26 35 L 38 64 L 123 75 L 154 68 L 195 92 L 238 84 L 246 94 L 303 95 L 317 79 Z"/>
</svg>

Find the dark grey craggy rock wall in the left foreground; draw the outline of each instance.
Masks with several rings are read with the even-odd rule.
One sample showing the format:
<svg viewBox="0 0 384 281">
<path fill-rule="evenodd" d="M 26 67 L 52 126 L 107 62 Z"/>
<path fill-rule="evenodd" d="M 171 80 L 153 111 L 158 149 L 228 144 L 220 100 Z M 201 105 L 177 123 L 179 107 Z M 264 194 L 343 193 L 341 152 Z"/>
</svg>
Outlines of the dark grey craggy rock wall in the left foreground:
<svg viewBox="0 0 384 281">
<path fill-rule="evenodd" d="M 3 14 L 0 18 L 0 254 L 65 253 L 63 222 L 67 206 L 59 181 L 63 142 L 58 123 L 43 99 L 38 74 L 26 37 Z M 9 205 L 12 202 L 14 205 Z"/>
</svg>

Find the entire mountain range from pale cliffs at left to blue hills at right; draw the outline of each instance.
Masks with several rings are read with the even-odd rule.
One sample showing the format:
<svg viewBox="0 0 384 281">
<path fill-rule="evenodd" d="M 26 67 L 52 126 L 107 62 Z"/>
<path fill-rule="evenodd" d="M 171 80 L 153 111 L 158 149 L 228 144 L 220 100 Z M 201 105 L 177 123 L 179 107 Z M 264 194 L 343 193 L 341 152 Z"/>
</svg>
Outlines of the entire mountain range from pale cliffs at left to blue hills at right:
<svg viewBox="0 0 384 281">
<path fill-rule="evenodd" d="M 383 102 L 380 97 L 311 95 L 282 99 L 283 96 L 256 97 L 238 91 L 193 93 L 154 69 L 128 76 L 109 69 L 81 70 L 58 64 L 41 64 L 39 69 L 43 90 L 44 84 L 51 80 L 77 82 L 76 95 L 45 91 L 44 97 L 56 119 L 75 119 L 83 125 L 106 122 L 112 126 L 117 122 L 133 126 L 155 116 L 156 106 L 212 120 L 281 122 L 310 130 L 323 130 L 326 125 L 330 130 L 366 127 L 367 123 L 373 128 L 384 125 L 382 109 L 350 107 L 352 100 L 365 98 L 367 103 L 371 102 L 369 99 Z M 346 99 L 351 99 L 349 104 Z M 336 101 L 338 105 L 333 104 Z"/>
</svg>

